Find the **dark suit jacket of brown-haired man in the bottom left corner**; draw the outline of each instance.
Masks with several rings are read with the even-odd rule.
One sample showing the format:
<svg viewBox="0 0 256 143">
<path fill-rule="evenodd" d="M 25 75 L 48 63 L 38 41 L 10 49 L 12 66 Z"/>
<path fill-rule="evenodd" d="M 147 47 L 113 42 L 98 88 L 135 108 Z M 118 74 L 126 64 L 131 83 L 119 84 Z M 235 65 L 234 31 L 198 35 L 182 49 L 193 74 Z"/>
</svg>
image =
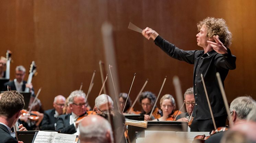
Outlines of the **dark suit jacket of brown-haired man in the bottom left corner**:
<svg viewBox="0 0 256 143">
<path fill-rule="evenodd" d="M 0 124 L 0 137 L 0 143 L 18 143 L 17 140 L 10 135 L 7 127 L 2 124 Z"/>
</svg>

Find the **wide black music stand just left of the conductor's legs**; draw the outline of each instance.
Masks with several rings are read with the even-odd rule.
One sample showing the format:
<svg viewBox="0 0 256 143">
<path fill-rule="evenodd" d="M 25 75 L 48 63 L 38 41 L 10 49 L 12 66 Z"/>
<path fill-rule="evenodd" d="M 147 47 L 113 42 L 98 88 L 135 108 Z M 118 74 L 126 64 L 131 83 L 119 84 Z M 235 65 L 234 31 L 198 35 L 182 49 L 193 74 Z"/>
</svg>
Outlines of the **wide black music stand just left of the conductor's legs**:
<svg viewBox="0 0 256 143">
<path fill-rule="evenodd" d="M 130 140 L 136 139 L 136 132 L 144 132 L 145 130 L 159 130 L 159 131 L 183 131 L 185 126 L 187 131 L 188 123 L 183 121 L 148 121 L 148 127 L 142 128 L 137 126 L 128 125 L 128 135 Z"/>
</svg>

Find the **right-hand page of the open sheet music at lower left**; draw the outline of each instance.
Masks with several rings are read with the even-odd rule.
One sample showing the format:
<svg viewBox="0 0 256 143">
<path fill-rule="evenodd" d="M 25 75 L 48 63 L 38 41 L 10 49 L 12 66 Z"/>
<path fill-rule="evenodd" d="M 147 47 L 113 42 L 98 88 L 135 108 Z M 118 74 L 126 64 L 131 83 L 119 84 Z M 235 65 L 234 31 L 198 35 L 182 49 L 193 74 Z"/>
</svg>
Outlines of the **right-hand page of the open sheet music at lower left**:
<svg viewBox="0 0 256 143">
<path fill-rule="evenodd" d="M 74 143 L 76 138 L 75 134 L 56 133 L 53 143 Z"/>
</svg>

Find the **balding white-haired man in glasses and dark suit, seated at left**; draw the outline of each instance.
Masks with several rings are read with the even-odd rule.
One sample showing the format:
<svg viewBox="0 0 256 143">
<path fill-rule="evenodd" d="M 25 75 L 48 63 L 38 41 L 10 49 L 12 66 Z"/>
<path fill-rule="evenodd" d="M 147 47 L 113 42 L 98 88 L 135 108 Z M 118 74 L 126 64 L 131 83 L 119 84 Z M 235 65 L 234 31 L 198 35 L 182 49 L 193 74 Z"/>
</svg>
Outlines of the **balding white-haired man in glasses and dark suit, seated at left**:
<svg viewBox="0 0 256 143">
<path fill-rule="evenodd" d="M 56 127 L 56 121 L 59 115 L 63 114 L 63 108 L 65 105 L 66 98 L 62 95 L 58 95 L 54 98 L 53 107 L 44 112 L 44 119 L 40 127 L 41 130 L 54 130 Z"/>
</svg>

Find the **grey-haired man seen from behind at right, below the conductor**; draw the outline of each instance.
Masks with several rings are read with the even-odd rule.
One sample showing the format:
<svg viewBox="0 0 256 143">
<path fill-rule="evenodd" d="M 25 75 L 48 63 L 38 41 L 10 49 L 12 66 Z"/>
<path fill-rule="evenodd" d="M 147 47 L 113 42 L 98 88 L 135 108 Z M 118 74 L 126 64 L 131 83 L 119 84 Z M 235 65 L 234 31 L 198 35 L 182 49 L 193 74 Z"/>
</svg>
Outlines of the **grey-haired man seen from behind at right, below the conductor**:
<svg viewBox="0 0 256 143">
<path fill-rule="evenodd" d="M 255 100 L 248 96 L 235 98 L 230 104 L 231 119 L 229 119 L 230 128 L 246 122 L 247 115 L 255 108 Z M 225 132 L 219 132 L 211 135 L 206 143 L 219 143 Z"/>
</svg>

